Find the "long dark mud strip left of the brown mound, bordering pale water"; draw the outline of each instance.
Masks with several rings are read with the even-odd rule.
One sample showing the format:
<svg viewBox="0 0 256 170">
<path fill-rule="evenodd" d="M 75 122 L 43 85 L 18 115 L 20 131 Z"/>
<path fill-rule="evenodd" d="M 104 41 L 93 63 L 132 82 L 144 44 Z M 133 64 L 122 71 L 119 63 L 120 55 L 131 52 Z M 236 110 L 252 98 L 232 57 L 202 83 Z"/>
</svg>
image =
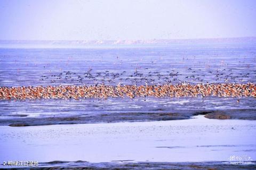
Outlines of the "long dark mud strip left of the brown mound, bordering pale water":
<svg viewBox="0 0 256 170">
<path fill-rule="evenodd" d="M 181 120 L 189 119 L 191 114 L 158 113 L 158 112 L 129 112 L 108 113 L 76 116 L 52 116 L 52 117 L 28 117 L 2 119 L 0 125 L 9 126 L 36 126 L 36 125 L 58 125 L 58 124 L 85 124 L 85 123 L 116 123 L 116 122 L 142 122 L 159 120 Z"/>
</svg>

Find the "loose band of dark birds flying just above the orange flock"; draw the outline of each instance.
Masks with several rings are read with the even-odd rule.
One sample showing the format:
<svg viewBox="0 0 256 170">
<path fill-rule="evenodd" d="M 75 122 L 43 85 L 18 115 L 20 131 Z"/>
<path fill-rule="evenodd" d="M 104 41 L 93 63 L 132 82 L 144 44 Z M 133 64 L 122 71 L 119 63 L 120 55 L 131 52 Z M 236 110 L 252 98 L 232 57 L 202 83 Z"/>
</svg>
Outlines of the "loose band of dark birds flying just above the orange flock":
<svg viewBox="0 0 256 170">
<path fill-rule="evenodd" d="M 254 83 L 256 70 L 253 72 L 232 72 L 232 69 L 201 70 L 191 69 L 160 72 L 145 70 L 130 70 L 122 72 L 89 69 L 86 72 L 63 71 L 59 74 L 44 75 L 39 79 L 45 83 L 72 85 L 154 85 L 180 83 Z"/>
</svg>

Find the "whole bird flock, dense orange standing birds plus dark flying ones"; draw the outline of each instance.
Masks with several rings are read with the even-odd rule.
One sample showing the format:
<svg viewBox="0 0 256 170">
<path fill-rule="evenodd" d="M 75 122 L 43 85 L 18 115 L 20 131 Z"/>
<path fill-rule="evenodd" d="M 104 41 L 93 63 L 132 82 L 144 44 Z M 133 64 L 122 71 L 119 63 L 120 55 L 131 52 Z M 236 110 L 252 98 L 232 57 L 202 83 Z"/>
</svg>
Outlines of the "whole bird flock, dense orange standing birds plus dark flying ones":
<svg viewBox="0 0 256 170">
<path fill-rule="evenodd" d="M 256 97 L 256 70 L 135 69 L 121 72 L 89 69 L 42 75 L 46 86 L 0 87 L 0 99 L 76 99 L 163 97 Z M 49 85 L 51 84 L 51 85 Z M 239 100 L 238 100 L 239 101 Z"/>
</svg>

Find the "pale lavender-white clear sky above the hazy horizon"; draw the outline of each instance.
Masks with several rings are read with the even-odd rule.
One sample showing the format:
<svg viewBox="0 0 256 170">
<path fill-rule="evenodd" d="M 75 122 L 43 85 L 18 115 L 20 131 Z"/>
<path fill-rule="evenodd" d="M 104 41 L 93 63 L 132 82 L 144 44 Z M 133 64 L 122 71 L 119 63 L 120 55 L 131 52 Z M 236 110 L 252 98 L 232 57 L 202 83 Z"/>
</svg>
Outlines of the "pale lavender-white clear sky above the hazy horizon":
<svg viewBox="0 0 256 170">
<path fill-rule="evenodd" d="M 0 0 L 0 40 L 256 36 L 254 0 Z"/>
</svg>

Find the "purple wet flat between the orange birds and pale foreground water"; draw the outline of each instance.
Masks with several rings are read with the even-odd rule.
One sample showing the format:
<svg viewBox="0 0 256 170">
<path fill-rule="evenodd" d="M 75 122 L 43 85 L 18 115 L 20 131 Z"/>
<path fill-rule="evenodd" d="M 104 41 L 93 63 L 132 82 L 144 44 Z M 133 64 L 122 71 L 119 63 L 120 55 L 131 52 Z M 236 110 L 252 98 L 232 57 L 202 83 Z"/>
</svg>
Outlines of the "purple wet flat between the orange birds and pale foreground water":
<svg viewBox="0 0 256 170">
<path fill-rule="evenodd" d="M 0 125 L 136 122 L 188 119 L 218 111 L 236 119 L 255 119 L 254 98 L 109 98 L 1 101 Z M 165 116 L 165 114 L 167 114 Z M 171 114 L 168 116 L 168 114 Z M 67 119 L 65 119 L 67 118 Z"/>
</svg>

